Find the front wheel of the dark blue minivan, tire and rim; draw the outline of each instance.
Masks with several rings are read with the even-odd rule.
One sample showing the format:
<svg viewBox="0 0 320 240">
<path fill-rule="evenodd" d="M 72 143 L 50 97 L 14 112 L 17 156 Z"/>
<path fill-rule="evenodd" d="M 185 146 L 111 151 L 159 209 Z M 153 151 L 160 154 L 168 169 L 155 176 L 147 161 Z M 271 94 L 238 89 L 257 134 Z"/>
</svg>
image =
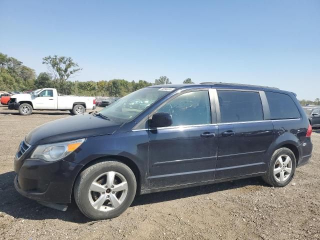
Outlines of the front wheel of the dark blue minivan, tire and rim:
<svg viewBox="0 0 320 240">
<path fill-rule="evenodd" d="M 107 186 L 108 183 L 111 186 Z M 122 185 L 124 188 L 125 183 L 124 190 L 113 191 Z M 74 199 L 88 218 L 109 219 L 120 215 L 130 206 L 135 191 L 136 179 L 132 170 L 119 161 L 106 160 L 87 167 L 78 175 L 74 184 Z"/>
</svg>

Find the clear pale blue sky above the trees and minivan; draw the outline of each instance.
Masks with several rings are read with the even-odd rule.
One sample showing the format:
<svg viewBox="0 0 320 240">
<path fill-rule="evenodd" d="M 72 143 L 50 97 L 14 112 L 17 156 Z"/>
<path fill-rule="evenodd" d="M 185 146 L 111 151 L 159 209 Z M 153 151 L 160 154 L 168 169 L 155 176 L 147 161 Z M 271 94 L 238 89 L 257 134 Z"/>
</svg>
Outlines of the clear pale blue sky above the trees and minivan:
<svg viewBox="0 0 320 240">
<path fill-rule="evenodd" d="M 0 52 L 37 74 L 57 54 L 83 67 L 72 80 L 166 75 L 320 97 L 319 0 L 1 0 L 0 22 Z"/>
</svg>

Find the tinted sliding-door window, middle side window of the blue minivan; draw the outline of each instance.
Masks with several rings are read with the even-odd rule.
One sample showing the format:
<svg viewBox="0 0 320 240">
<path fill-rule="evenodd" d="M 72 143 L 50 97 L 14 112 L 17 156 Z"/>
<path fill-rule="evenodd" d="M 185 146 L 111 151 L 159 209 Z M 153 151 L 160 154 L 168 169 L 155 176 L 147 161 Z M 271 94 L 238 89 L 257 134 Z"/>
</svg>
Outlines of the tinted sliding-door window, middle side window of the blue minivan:
<svg viewBox="0 0 320 240">
<path fill-rule="evenodd" d="M 260 94 L 254 91 L 217 90 L 221 122 L 263 120 Z"/>
</svg>

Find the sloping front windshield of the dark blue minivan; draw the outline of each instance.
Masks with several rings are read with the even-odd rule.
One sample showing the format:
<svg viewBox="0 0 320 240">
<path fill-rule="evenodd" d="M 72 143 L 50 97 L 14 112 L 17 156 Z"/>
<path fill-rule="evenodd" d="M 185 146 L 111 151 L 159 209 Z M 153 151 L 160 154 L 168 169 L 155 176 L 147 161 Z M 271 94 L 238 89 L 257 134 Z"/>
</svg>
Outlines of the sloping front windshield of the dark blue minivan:
<svg viewBox="0 0 320 240">
<path fill-rule="evenodd" d="M 118 122 L 126 122 L 151 105 L 154 101 L 166 95 L 172 87 L 145 87 L 134 91 L 109 106 L 103 108 L 100 113 Z"/>
</svg>

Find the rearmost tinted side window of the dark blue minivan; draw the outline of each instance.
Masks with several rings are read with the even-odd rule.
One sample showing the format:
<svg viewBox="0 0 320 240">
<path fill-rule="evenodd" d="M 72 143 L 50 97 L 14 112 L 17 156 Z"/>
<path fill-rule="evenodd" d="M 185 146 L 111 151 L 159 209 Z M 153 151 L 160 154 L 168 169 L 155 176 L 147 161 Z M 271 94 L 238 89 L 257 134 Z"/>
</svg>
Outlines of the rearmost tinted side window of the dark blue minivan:
<svg viewBox="0 0 320 240">
<path fill-rule="evenodd" d="M 271 119 L 300 118 L 300 113 L 292 98 L 284 93 L 265 91 Z"/>
</svg>

